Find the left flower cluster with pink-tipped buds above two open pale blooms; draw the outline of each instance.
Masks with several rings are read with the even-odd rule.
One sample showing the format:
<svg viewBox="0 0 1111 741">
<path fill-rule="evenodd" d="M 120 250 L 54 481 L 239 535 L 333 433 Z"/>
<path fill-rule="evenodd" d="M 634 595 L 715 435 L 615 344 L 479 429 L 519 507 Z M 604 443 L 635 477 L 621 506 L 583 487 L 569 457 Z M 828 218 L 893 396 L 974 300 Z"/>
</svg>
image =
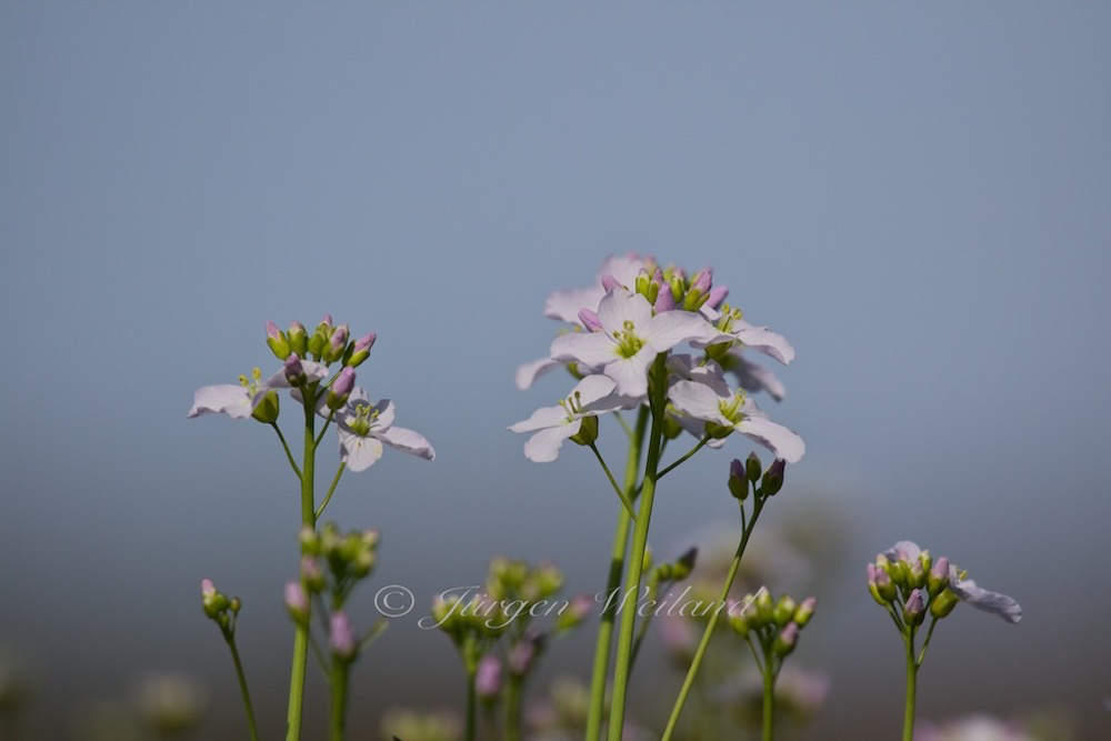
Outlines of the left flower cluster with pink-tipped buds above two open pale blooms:
<svg viewBox="0 0 1111 741">
<path fill-rule="evenodd" d="M 340 460 L 349 470 L 364 471 L 373 465 L 382 457 L 382 443 L 432 460 L 436 451 L 428 440 L 393 424 L 393 402 L 383 399 L 372 403 L 367 392 L 354 384 L 354 369 L 370 357 L 376 340 L 373 332 L 351 339 L 348 326 L 334 326 L 330 314 L 311 334 L 301 322 L 293 322 L 287 331 L 267 322 L 267 344 L 282 361 L 281 369 L 266 380 L 256 368 L 251 375 L 240 375 L 238 384 L 199 389 L 189 417 L 220 413 L 277 424 L 278 391 L 290 389 L 298 402 L 310 404 L 328 423 L 336 422 Z"/>
</svg>

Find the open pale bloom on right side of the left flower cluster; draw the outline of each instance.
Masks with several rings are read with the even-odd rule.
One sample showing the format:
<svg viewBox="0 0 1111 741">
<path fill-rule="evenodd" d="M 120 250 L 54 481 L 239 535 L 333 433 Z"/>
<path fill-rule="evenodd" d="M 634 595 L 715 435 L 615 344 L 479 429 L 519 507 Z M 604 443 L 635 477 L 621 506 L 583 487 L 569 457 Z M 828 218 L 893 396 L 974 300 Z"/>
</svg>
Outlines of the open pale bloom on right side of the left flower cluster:
<svg viewBox="0 0 1111 741">
<path fill-rule="evenodd" d="M 323 395 L 323 394 L 322 394 Z M 318 410 L 321 413 L 322 410 Z M 393 425 L 393 402 L 370 403 L 367 392 L 356 387 L 347 405 L 337 412 L 340 460 L 351 471 L 366 471 L 382 457 L 382 443 L 424 460 L 436 459 L 436 450 L 423 435 Z"/>
</svg>

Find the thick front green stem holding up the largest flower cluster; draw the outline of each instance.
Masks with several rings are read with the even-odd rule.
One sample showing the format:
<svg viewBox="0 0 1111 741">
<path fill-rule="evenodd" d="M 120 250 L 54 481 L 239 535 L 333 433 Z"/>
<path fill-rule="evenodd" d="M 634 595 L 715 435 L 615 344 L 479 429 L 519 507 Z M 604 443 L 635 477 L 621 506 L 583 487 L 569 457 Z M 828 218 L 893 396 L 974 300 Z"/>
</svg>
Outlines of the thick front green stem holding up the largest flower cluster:
<svg viewBox="0 0 1111 741">
<path fill-rule="evenodd" d="M 648 529 L 652 522 L 652 503 L 655 500 L 657 471 L 660 465 L 660 441 L 663 439 L 663 418 L 667 413 L 668 368 L 667 353 L 655 357 L 649 377 L 649 399 L 652 410 L 652 431 L 648 435 L 648 461 L 644 464 L 644 484 L 640 492 L 640 511 L 632 535 L 631 561 L 621 602 L 621 632 L 618 634 L 618 655 L 613 667 L 613 702 L 610 708 L 609 741 L 621 741 L 624 729 L 625 697 L 629 692 L 629 664 L 632 659 L 632 640 L 637 628 L 637 600 L 644 570 L 648 549 Z"/>
</svg>

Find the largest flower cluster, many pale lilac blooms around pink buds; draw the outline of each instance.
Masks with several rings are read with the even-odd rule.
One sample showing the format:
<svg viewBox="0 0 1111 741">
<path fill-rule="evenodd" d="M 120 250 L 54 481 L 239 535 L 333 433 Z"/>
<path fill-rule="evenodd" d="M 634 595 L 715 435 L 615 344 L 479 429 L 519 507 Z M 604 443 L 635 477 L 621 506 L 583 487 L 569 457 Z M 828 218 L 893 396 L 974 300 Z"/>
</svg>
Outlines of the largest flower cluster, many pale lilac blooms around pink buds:
<svg viewBox="0 0 1111 741">
<path fill-rule="evenodd" d="M 668 414 L 681 429 L 708 438 L 711 447 L 739 432 L 777 458 L 800 460 L 802 439 L 771 421 L 749 397 L 767 390 L 782 398 L 781 384 L 740 354 L 747 347 L 785 364 L 794 349 L 780 334 L 745 322 L 739 309 L 724 303 L 727 293 L 725 287 L 713 286 L 709 268 L 688 277 L 681 268 L 628 256 L 610 258 L 595 286 L 549 297 L 546 316 L 567 322 L 570 331 L 556 338 L 548 358 L 518 370 L 518 385 L 528 388 L 561 366 L 580 381 L 558 405 L 510 428 L 533 433 L 526 455 L 548 462 L 564 440 L 592 444 L 598 417 L 648 403 L 651 367 L 662 356 Z M 694 353 L 677 351 L 688 343 Z M 727 380 L 727 369 L 739 388 Z"/>
</svg>

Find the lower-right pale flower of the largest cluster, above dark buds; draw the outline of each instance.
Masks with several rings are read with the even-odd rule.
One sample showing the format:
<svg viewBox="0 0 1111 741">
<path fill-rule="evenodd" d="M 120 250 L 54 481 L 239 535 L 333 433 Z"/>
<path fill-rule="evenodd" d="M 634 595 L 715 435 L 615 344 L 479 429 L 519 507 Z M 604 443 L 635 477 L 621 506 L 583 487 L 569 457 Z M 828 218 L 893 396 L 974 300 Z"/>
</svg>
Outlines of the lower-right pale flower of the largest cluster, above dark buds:
<svg viewBox="0 0 1111 741">
<path fill-rule="evenodd" d="M 704 383 L 677 381 L 668 393 L 671 403 L 682 413 L 735 430 L 788 463 L 798 462 L 807 451 L 802 438 L 768 419 L 743 391 L 722 395 Z"/>
</svg>

